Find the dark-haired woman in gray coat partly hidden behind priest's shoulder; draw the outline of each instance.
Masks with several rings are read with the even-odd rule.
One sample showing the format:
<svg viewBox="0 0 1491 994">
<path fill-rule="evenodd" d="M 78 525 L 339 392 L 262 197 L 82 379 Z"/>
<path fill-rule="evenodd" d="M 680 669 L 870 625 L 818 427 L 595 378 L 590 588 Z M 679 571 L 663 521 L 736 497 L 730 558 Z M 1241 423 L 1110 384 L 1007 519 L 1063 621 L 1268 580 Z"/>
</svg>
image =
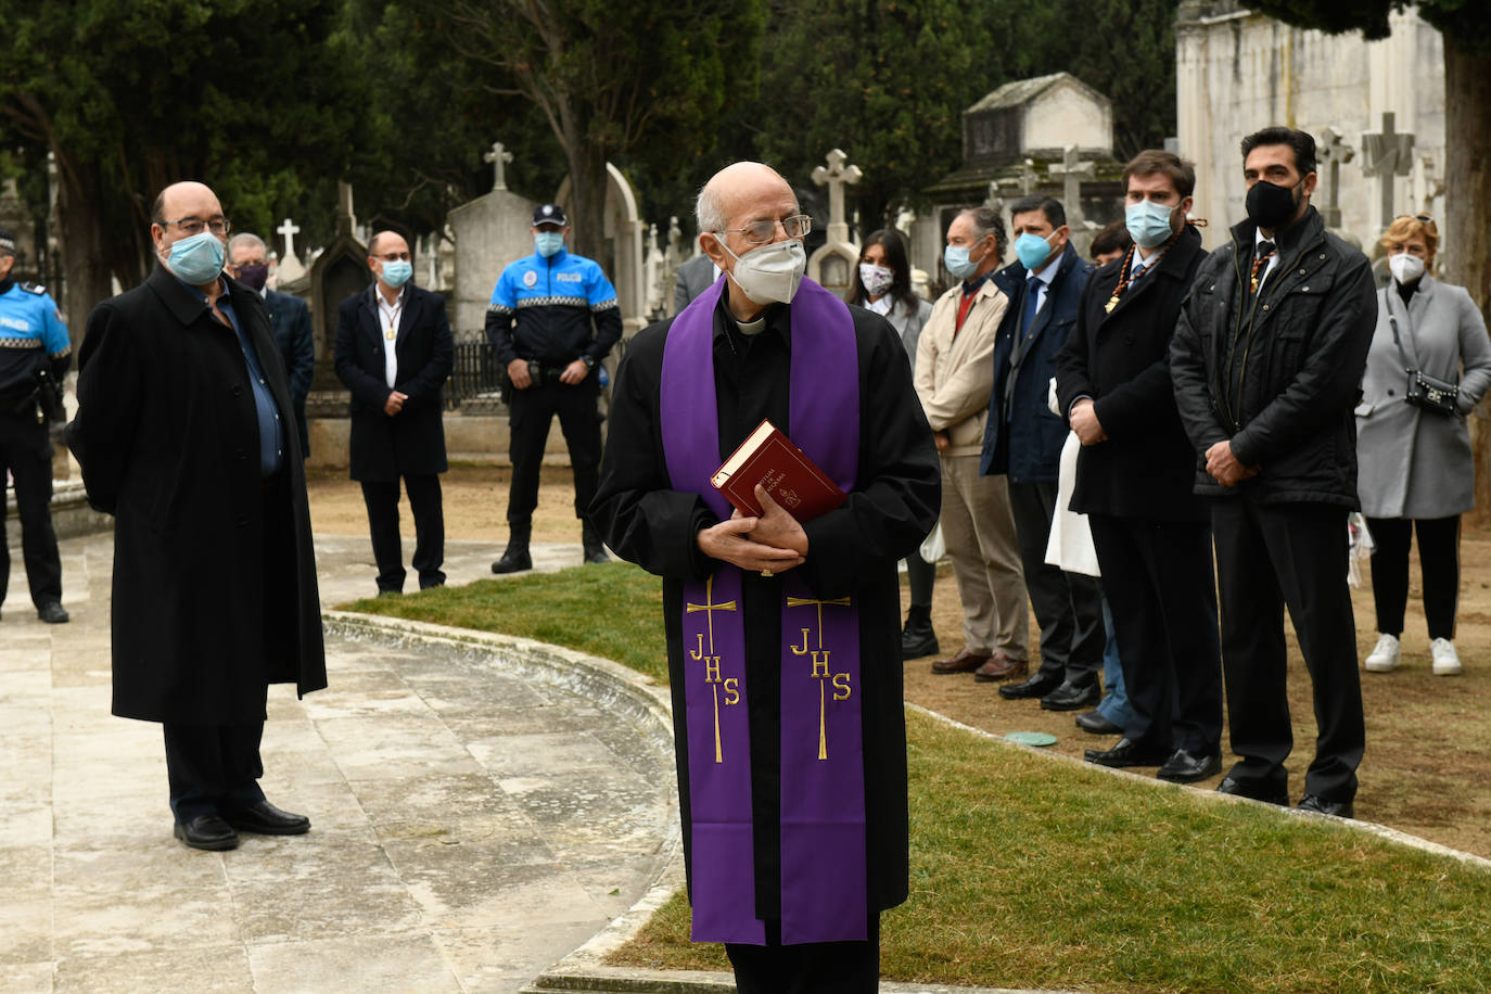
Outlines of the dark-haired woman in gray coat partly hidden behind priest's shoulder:
<svg viewBox="0 0 1491 994">
<path fill-rule="evenodd" d="M 859 253 L 859 265 L 850 279 L 844 300 L 859 304 L 877 314 L 884 314 L 890 326 L 901 332 L 901 344 L 911 358 L 911 371 L 917 365 L 917 340 L 921 326 L 932 316 L 932 304 L 911 289 L 911 264 L 907 262 L 907 243 L 895 228 L 872 231 L 865 238 Z M 911 581 L 911 611 L 901 630 L 901 657 L 920 659 L 938 651 L 936 632 L 932 630 L 932 584 L 936 566 L 912 556 L 907 560 L 907 578 Z"/>
</svg>

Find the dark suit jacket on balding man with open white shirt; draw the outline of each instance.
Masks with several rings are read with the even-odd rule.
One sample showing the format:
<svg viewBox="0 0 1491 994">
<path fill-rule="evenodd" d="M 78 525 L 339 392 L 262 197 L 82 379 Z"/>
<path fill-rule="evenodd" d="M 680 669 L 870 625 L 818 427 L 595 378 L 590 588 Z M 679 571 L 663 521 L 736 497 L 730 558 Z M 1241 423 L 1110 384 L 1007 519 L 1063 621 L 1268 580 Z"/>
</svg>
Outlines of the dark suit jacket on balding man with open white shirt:
<svg viewBox="0 0 1491 994">
<path fill-rule="evenodd" d="M 334 359 L 337 379 L 352 390 L 352 478 L 397 480 L 446 471 L 446 431 L 441 386 L 455 364 L 455 338 L 446 300 L 406 283 L 398 320 L 394 389 L 409 395 L 404 410 L 389 417 L 383 402 L 392 390 L 383 376 L 383 329 L 377 313 L 377 283 L 337 307 Z"/>
</svg>

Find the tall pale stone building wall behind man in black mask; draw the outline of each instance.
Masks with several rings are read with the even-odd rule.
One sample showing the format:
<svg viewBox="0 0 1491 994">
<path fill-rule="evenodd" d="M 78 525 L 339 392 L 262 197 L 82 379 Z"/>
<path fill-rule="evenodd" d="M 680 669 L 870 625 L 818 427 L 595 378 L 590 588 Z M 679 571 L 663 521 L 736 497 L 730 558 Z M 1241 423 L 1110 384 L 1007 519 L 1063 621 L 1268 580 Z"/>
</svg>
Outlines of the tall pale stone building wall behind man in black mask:
<svg viewBox="0 0 1491 994">
<path fill-rule="evenodd" d="M 1390 12 L 1388 27 L 1388 37 L 1367 42 L 1358 31 L 1290 27 L 1238 0 L 1179 4 L 1176 121 L 1181 155 L 1196 162 L 1194 213 L 1211 221 L 1202 229 L 1208 247 L 1246 216 L 1239 142 L 1273 124 L 1315 137 L 1315 207 L 1331 212 L 1339 234 L 1367 255 L 1381 252 L 1384 215 L 1440 218 L 1443 37 L 1412 7 Z M 1443 218 L 1439 234 L 1440 246 L 1454 250 L 1457 235 Z"/>
</svg>

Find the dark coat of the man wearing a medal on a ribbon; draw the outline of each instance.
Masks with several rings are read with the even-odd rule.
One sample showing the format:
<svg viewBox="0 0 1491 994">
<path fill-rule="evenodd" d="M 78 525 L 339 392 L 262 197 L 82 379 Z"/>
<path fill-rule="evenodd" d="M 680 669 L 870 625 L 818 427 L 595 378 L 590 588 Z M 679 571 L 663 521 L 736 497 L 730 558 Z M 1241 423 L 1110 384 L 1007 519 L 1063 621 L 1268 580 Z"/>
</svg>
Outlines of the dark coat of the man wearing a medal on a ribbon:
<svg viewBox="0 0 1491 994">
<path fill-rule="evenodd" d="M 1072 510 L 1150 520 L 1208 519 L 1191 492 L 1196 453 L 1175 410 L 1170 338 L 1181 304 L 1206 252 L 1190 225 L 1175 244 L 1127 288 L 1112 313 L 1105 307 L 1123 277 L 1123 261 L 1093 274 L 1081 314 L 1056 356 L 1056 392 L 1071 417 L 1079 396 L 1093 410 L 1108 441 L 1084 446 L 1077 460 Z"/>
</svg>

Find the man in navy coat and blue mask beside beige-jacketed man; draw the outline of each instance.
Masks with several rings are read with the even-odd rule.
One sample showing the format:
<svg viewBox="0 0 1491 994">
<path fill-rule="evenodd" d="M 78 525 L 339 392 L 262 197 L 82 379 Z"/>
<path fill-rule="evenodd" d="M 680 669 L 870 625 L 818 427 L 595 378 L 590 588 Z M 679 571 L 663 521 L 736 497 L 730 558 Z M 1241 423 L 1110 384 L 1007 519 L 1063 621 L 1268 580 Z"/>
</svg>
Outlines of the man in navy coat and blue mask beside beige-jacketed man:
<svg viewBox="0 0 1491 994">
<path fill-rule="evenodd" d="M 1041 697 L 1047 711 L 1078 711 L 1096 705 L 1102 694 L 1102 587 L 1094 577 L 1045 562 L 1066 443 L 1066 425 L 1051 413 L 1047 395 L 1056 353 L 1077 323 L 1093 265 L 1072 246 L 1066 210 L 1057 200 L 1017 200 L 1009 207 L 1009 225 L 1018 262 L 993 277 L 1009 307 L 994 344 L 994 392 L 978 469 L 1009 477 L 1026 590 L 1041 626 L 1041 668 L 1029 680 L 1002 686 L 999 696 Z"/>
</svg>

